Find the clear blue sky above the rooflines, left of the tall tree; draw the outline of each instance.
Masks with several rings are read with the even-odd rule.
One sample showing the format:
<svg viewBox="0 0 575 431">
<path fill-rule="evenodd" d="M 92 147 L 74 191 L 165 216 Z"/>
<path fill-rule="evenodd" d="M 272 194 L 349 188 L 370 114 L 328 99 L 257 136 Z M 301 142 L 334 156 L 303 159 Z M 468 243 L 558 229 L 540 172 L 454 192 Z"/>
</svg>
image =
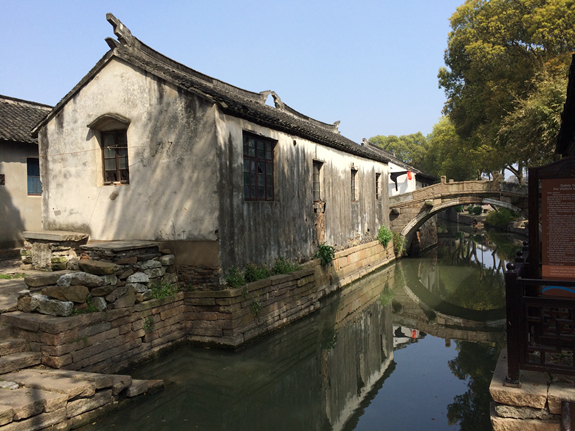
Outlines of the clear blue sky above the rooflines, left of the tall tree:
<svg viewBox="0 0 575 431">
<path fill-rule="evenodd" d="M 55 105 L 107 52 L 106 13 L 164 55 L 361 142 L 432 131 L 463 0 L 0 0 L 0 94 Z"/>
</svg>

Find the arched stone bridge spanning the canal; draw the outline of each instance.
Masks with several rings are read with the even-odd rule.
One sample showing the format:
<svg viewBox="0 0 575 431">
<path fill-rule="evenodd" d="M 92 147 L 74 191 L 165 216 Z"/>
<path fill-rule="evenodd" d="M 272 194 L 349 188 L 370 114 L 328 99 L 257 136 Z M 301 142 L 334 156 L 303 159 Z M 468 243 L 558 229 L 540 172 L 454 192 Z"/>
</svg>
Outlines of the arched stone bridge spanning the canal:
<svg viewBox="0 0 575 431">
<path fill-rule="evenodd" d="M 401 232 L 406 248 L 430 217 L 458 205 L 490 204 L 509 208 L 527 218 L 527 186 L 500 181 L 442 182 L 389 198 L 391 230 Z"/>
</svg>

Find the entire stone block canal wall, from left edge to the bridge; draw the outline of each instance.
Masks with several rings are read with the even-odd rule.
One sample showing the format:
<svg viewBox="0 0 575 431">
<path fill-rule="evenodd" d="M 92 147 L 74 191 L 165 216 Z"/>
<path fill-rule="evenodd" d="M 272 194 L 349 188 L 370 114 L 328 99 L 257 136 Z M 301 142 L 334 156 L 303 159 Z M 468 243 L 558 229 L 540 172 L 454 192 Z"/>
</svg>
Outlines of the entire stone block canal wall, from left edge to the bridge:
<svg viewBox="0 0 575 431">
<path fill-rule="evenodd" d="M 14 335 L 52 368 L 116 372 L 186 340 L 237 347 L 319 308 L 319 300 L 395 258 L 377 241 L 304 269 L 222 291 L 180 292 L 130 307 L 71 317 L 13 312 Z M 257 304 L 257 305 L 254 305 Z"/>
</svg>

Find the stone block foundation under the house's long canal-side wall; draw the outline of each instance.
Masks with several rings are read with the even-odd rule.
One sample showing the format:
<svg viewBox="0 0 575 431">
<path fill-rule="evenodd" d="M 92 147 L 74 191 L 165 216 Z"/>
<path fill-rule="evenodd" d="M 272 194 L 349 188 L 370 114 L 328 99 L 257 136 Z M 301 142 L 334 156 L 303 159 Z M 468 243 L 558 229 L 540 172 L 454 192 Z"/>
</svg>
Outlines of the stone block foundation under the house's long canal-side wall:
<svg viewBox="0 0 575 431">
<path fill-rule="evenodd" d="M 304 317 L 319 300 L 395 258 L 379 242 L 339 251 L 328 267 L 319 259 L 304 269 L 222 291 L 185 295 L 188 339 L 235 347 Z"/>
</svg>

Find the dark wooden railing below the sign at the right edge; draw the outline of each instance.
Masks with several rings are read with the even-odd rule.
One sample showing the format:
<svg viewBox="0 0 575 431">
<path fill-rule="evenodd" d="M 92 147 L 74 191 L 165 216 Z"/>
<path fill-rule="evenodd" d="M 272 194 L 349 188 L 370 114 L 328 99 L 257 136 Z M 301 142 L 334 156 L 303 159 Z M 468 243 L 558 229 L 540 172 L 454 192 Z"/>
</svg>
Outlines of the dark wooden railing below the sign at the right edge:
<svg viewBox="0 0 575 431">
<path fill-rule="evenodd" d="M 545 287 L 575 287 L 575 282 L 528 278 L 527 246 L 505 273 L 507 302 L 507 380 L 520 370 L 575 375 L 575 298 L 544 296 Z"/>
</svg>

